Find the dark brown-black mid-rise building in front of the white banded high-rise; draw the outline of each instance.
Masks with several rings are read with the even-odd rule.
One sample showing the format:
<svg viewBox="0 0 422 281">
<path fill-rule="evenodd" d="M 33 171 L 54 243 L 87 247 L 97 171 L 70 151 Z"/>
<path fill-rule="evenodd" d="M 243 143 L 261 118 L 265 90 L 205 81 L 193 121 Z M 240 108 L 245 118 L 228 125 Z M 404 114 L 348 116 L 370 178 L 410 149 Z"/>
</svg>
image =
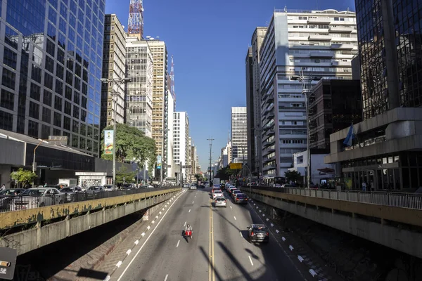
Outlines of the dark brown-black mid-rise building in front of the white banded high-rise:
<svg viewBox="0 0 422 281">
<path fill-rule="evenodd" d="M 359 80 L 321 80 L 309 95 L 309 147 L 330 148 L 330 134 L 362 121 Z"/>
</svg>

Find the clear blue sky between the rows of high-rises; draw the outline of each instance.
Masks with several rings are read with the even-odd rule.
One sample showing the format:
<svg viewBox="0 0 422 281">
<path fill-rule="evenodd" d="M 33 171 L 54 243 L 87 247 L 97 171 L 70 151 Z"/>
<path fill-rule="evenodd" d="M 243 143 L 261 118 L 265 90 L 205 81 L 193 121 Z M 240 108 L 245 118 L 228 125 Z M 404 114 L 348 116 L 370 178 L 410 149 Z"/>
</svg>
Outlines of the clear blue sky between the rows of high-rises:
<svg viewBox="0 0 422 281">
<path fill-rule="evenodd" d="M 354 11 L 354 0 L 144 0 L 144 36 L 159 36 L 174 55 L 176 110 L 188 112 L 191 137 L 206 171 L 219 157 L 230 129 L 230 107 L 246 106 L 245 57 L 252 32 L 274 8 Z M 127 30 L 129 0 L 106 0 Z M 170 64 L 169 64 L 170 67 Z"/>
</svg>

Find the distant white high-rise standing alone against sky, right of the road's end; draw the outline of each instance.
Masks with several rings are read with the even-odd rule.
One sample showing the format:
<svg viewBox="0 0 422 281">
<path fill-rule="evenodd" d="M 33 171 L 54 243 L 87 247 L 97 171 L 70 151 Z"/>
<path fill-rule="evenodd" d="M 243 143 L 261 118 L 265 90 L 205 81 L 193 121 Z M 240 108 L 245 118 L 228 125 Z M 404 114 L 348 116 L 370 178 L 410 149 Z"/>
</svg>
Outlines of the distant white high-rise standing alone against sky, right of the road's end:
<svg viewBox="0 0 422 281">
<path fill-rule="evenodd" d="M 231 162 L 245 163 L 247 161 L 247 130 L 246 107 L 231 107 Z"/>
</svg>

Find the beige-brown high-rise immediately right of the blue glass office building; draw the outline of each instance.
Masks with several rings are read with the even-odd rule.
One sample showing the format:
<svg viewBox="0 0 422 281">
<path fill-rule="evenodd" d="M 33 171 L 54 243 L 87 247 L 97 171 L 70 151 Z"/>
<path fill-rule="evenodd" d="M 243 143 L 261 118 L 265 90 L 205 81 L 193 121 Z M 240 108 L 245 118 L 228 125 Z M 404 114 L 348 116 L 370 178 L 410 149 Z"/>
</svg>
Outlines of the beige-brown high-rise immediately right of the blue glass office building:
<svg viewBox="0 0 422 281">
<path fill-rule="evenodd" d="M 103 78 L 123 79 L 125 77 L 125 37 L 126 33 L 117 15 L 106 15 L 104 22 Z M 102 84 L 100 131 L 113 124 L 114 120 L 120 124 L 124 123 L 124 88 L 124 84 Z"/>
</svg>

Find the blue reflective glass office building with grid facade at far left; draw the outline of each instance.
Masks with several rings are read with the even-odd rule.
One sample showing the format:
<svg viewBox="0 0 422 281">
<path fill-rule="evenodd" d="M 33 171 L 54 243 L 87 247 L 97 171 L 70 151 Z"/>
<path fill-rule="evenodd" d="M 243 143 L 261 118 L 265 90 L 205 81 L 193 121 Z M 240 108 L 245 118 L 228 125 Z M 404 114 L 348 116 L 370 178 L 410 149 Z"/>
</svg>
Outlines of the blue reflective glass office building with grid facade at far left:
<svg viewBox="0 0 422 281">
<path fill-rule="evenodd" d="M 105 0 L 0 0 L 0 129 L 99 155 Z"/>
</svg>

